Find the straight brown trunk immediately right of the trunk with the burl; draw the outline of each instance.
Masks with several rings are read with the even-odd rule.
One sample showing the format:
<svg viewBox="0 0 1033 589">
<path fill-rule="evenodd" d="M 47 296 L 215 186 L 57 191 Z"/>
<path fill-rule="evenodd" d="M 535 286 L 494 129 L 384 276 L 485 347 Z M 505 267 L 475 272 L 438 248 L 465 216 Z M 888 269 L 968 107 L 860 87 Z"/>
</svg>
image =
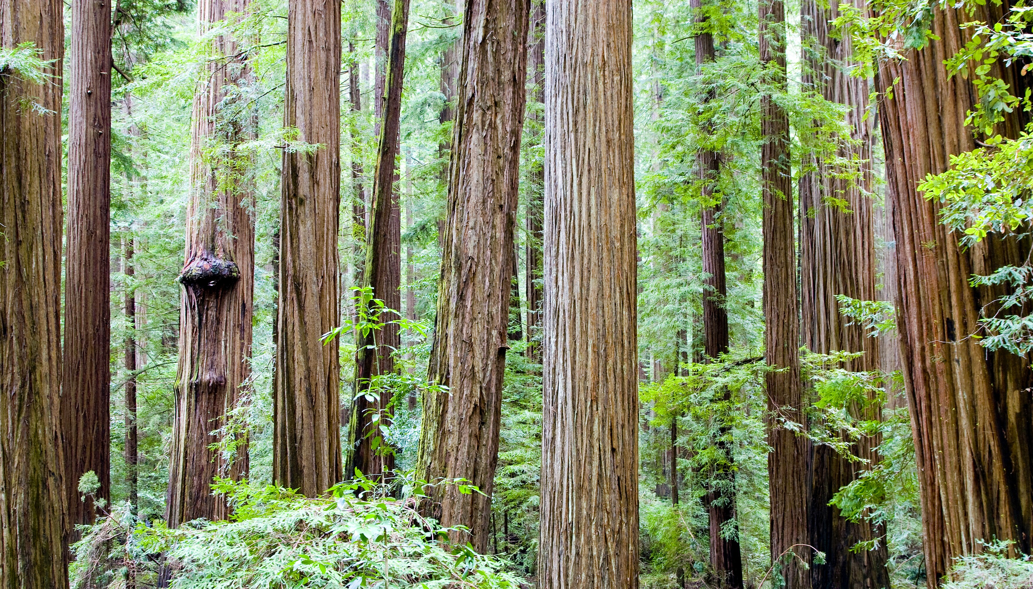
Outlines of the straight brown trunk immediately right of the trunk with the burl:
<svg viewBox="0 0 1033 589">
<path fill-rule="evenodd" d="M 283 154 L 273 479 L 314 497 L 341 468 L 337 237 L 341 205 L 341 6 L 289 0 L 284 124 L 318 144 Z"/>
</svg>

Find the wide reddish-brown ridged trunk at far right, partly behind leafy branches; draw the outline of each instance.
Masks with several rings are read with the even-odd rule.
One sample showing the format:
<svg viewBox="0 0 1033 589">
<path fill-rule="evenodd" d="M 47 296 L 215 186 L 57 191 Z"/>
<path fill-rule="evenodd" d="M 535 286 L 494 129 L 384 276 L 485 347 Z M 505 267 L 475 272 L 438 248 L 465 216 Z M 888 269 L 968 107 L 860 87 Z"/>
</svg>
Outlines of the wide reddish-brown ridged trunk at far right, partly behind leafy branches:
<svg viewBox="0 0 1033 589">
<path fill-rule="evenodd" d="M 1033 397 L 1029 359 L 989 351 L 968 337 L 978 331 L 984 305 L 1001 288 L 973 288 L 973 274 L 1021 265 L 1028 243 L 991 237 L 959 247 L 959 236 L 940 223 L 939 206 L 915 186 L 939 174 L 949 156 L 976 147 L 965 127 L 976 96 L 965 79 L 943 66 L 966 42 L 958 24 L 1001 22 L 1008 4 L 988 4 L 974 16 L 961 9 L 934 9 L 932 32 L 920 51 L 905 60 L 879 64 L 881 93 L 894 81 L 893 97 L 879 107 L 886 161 L 887 195 L 894 208 L 898 277 L 898 319 L 903 374 L 915 436 L 921 487 L 921 522 L 927 579 L 934 587 L 952 559 L 978 553 L 978 539 L 1013 539 L 1014 551 L 1029 554 L 1033 536 Z M 1022 96 L 1022 64 L 1000 76 Z M 997 131 L 1016 136 L 1026 122 L 1016 110 Z M 992 306 L 988 315 L 995 312 Z"/>
</svg>

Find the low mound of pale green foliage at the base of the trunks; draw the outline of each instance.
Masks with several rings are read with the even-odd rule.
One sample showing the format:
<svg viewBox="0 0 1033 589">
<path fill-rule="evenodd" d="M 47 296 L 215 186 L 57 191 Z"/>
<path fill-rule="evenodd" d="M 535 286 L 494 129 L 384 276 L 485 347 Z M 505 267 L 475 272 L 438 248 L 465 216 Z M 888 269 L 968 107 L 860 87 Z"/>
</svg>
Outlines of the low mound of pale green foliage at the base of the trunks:
<svg viewBox="0 0 1033 589">
<path fill-rule="evenodd" d="M 447 530 L 416 510 L 418 482 L 406 478 L 399 498 L 363 478 L 321 498 L 246 482 L 213 488 L 228 498 L 231 521 L 148 527 L 120 505 L 73 547 L 72 587 L 151 584 L 161 567 L 177 589 L 519 586 L 499 559 L 439 539 Z"/>
</svg>

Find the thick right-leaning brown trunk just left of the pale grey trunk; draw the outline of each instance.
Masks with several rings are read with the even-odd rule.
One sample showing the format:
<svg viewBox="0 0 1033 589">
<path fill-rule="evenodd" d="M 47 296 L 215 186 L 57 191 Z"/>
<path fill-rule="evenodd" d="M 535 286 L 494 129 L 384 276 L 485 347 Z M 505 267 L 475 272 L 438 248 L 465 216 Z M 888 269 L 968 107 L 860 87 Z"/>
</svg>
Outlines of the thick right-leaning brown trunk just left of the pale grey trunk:
<svg viewBox="0 0 1033 589">
<path fill-rule="evenodd" d="M 488 550 L 520 193 L 528 0 L 469 0 L 452 132 L 448 216 L 417 468 L 467 478 L 484 494 L 436 487 L 426 507 Z M 455 544 L 467 541 L 452 532 Z"/>
</svg>

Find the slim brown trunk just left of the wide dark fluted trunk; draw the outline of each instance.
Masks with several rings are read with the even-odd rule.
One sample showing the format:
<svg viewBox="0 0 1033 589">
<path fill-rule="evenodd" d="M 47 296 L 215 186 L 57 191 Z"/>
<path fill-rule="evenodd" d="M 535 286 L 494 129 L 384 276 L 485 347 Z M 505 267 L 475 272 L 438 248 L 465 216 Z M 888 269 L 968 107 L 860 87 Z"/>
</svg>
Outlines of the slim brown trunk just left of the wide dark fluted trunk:
<svg viewBox="0 0 1033 589">
<path fill-rule="evenodd" d="M 763 192 L 764 348 L 768 364 L 779 369 L 764 376 L 769 417 L 768 475 L 771 481 L 772 562 L 782 559 L 786 586 L 809 589 L 807 537 L 807 440 L 781 427 L 779 419 L 805 423 L 800 376 L 800 319 L 789 171 L 789 118 L 772 96 L 786 91 L 785 7 L 782 0 L 760 3 L 760 60 L 769 91 L 760 97 L 761 189 Z M 792 557 L 795 553 L 800 559 Z"/>
</svg>

